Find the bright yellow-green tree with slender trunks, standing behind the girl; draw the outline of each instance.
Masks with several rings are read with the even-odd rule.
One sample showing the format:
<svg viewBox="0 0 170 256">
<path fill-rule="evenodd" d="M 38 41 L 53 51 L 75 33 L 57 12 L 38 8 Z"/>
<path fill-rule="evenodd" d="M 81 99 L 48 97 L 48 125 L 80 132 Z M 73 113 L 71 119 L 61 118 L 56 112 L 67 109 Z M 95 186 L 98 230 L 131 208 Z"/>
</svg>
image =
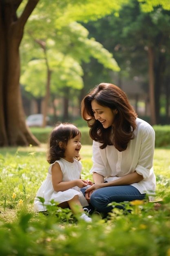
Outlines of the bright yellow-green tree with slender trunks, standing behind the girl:
<svg viewBox="0 0 170 256">
<path fill-rule="evenodd" d="M 45 22 L 45 21 L 44 21 Z M 58 25 L 58 22 L 57 22 Z M 54 29 L 55 24 L 52 25 L 53 30 L 51 34 L 41 35 L 41 39 L 35 39 L 34 31 L 29 29 L 29 34 L 33 38 L 33 41 L 26 40 L 24 45 L 28 50 L 28 45 L 30 52 L 29 65 L 24 67 L 24 72 L 21 76 L 21 83 L 25 86 L 26 90 L 32 91 L 35 96 L 37 92 L 43 97 L 45 97 L 45 104 L 43 109 L 47 111 L 49 105 L 49 97 L 51 94 L 55 93 L 61 95 L 61 91 L 64 93 L 64 117 L 63 120 L 68 120 L 68 106 L 70 97 L 70 88 L 74 90 L 80 90 L 83 88 L 82 81 L 82 61 L 89 62 L 90 57 L 93 56 L 105 67 L 118 71 L 119 67 L 112 57 L 104 47 L 95 41 L 94 38 L 88 38 L 88 31 L 82 25 L 77 22 L 71 22 L 68 25 L 62 25 L 59 29 Z M 60 32 L 60 33 L 59 33 Z M 67 40 L 65 40 L 67 38 Z M 43 49 L 43 54 L 35 54 L 31 51 L 33 48 L 33 42 L 37 42 Z M 61 42 L 63 42 L 61 44 Z M 24 47 L 22 44 L 22 48 Z M 32 60 L 33 58 L 39 58 L 38 60 Z M 22 56 L 24 59 L 24 56 Z M 44 89 L 44 83 L 42 83 L 42 76 L 44 71 L 42 71 L 42 76 L 38 77 L 37 74 L 41 74 L 42 65 L 40 63 L 46 63 L 46 73 L 47 73 L 47 86 L 46 92 Z M 35 65 L 33 65 L 35 63 Z M 39 63 L 39 65 L 37 65 Z M 47 65 L 48 64 L 48 65 Z M 44 70 L 44 68 L 43 68 Z M 32 74 L 32 75 L 31 75 Z M 35 75 L 34 75 L 35 74 Z M 35 78 L 35 76 L 37 76 Z M 50 78 L 50 79 L 49 79 Z M 55 79 L 54 79 L 55 78 Z M 44 79 L 44 78 L 43 78 Z M 52 85 L 52 86 L 51 86 Z M 32 88 L 32 89 L 31 89 Z M 37 95 L 38 96 L 38 95 Z M 44 113 L 46 117 L 46 112 Z"/>
</svg>

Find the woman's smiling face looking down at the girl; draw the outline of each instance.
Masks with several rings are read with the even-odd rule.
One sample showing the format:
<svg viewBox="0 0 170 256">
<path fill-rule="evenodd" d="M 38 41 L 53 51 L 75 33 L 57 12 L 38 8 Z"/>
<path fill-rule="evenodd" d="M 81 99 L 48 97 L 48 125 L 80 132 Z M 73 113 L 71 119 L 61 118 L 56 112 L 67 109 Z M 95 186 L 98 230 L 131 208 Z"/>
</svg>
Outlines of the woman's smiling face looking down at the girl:
<svg viewBox="0 0 170 256">
<path fill-rule="evenodd" d="M 112 110 L 111 108 L 101 106 L 94 99 L 91 101 L 91 108 L 95 119 L 98 120 L 104 128 L 114 126 L 117 109 Z"/>
</svg>

